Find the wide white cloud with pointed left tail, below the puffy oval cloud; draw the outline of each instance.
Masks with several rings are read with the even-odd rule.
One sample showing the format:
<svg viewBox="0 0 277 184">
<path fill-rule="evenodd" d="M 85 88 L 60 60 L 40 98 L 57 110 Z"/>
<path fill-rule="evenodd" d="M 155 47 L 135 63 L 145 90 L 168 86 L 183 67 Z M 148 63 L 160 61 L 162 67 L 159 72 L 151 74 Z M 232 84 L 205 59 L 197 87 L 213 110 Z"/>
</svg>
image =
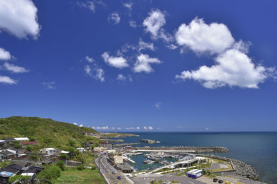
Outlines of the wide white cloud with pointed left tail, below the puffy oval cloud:
<svg viewBox="0 0 277 184">
<path fill-rule="evenodd" d="M 215 65 L 203 65 L 198 70 L 184 71 L 176 75 L 176 78 L 194 79 L 205 88 L 220 88 L 225 85 L 258 88 L 258 84 L 263 83 L 274 71 L 274 68 L 255 65 L 242 50 L 232 48 L 218 55 Z"/>
</svg>

